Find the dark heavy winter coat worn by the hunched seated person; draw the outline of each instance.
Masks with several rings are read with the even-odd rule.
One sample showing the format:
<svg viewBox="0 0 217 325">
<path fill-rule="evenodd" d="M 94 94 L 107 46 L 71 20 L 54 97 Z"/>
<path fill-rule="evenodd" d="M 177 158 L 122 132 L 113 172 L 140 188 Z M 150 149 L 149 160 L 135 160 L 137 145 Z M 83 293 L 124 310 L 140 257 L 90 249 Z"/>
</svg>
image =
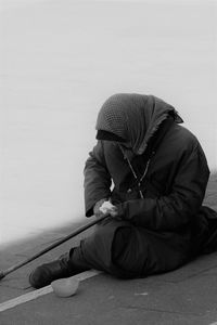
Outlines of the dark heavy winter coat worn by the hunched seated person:
<svg viewBox="0 0 217 325">
<path fill-rule="evenodd" d="M 161 122 L 158 117 L 152 120 L 143 152 L 130 159 L 117 142 L 98 141 L 85 168 L 86 216 L 93 214 L 98 200 L 111 198 L 123 221 L 141 232 L 156 233 L 171 246 L 176 246 L 176 236 L 182 238 L 188 259 L 197 253 L 208 232 L 209 209 L 202 203 L 209 170 L 197 139 L 177 123 L 175 115 L 159 117 Z M 144 171 L 139 184 L 133 173 L 141 179 Z M 112 227 L 115 232 L 116 225 Z"/>
</svg>

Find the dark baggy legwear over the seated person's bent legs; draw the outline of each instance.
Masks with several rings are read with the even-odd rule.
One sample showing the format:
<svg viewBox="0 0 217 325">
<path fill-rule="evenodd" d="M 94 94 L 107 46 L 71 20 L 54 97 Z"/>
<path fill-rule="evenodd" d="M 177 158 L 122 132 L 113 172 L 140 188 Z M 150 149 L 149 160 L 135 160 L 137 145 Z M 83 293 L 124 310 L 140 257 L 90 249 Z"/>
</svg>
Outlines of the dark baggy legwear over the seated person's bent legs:
<svg viewBox="0 0 217 325">
<path fill-rule="evenodd" d="M 71 249 L 68 264 L 79 272 L 97 269 L 122 278 L 142 277 L 186 263 L 189 246 L 183 234 L 156 233 L 111 218 Z"/>
</svg>

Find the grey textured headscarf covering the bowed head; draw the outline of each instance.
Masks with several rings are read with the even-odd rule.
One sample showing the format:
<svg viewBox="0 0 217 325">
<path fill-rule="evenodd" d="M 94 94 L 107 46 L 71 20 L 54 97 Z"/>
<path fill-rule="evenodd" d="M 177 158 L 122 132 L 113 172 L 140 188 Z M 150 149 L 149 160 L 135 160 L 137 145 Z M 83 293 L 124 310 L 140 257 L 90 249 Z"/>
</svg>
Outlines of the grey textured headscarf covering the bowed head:
<svg viewBox="0 0 217 325">
<path fill-rule="evenodd" d="M 149 140 L 169 115 L 177 123 L 183 122 L 171 105 L 156 96 L 119 93 L 103 104 L 95 129 L 124 139 L 136 155 L 141 155 Z"/>
</svg>

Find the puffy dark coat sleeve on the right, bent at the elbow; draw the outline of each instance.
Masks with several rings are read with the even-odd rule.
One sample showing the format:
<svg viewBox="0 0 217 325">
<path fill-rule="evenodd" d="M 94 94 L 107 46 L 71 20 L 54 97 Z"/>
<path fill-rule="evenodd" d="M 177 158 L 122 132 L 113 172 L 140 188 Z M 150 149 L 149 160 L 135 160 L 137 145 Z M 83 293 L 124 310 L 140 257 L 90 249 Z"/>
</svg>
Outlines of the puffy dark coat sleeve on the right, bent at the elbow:
<svg viewBox="0 0 217 325">
<path fill-rule="evenodd" d="M 135 199 L 118 206 L 119 216 L 135 225 L 173 231 L 189 224 L 199 211 L 209 170 L 200 145 L 179 161 L 171 191 L 158 198 Z"/>
</svg>

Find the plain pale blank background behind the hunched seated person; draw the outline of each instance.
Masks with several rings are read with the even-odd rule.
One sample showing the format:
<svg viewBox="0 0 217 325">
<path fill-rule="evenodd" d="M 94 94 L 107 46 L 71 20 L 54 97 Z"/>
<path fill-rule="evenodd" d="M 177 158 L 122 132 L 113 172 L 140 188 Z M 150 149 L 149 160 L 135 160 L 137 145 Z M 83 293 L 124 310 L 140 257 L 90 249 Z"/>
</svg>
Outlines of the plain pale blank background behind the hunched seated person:
<svg viewBox="0 0 217 325">
<path fill-rule="evenodd" d="M 82 218 L 97 113 L 115 92 L 175 105 L 217 166 L 214 1 L 27 2 L 0 13 L 4 240 Z"/>
</svg>

